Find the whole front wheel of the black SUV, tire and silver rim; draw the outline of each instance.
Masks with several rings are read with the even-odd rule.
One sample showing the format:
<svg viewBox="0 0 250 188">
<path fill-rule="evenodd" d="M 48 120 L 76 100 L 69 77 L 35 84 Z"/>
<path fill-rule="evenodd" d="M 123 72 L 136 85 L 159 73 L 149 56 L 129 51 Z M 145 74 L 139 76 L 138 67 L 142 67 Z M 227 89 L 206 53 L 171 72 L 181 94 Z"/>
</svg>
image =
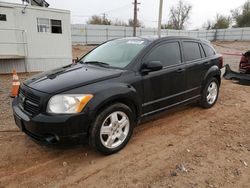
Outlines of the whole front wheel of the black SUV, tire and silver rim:
<svg viewBox="0 0 250 188">
<path fill-rule="evenodd" d="M 89 144 L 105 155 L 118 152 L 128 143 L 134 128 L 132 110 L 115 103 L 101 111 L 89 132 Z"/>
</svg>

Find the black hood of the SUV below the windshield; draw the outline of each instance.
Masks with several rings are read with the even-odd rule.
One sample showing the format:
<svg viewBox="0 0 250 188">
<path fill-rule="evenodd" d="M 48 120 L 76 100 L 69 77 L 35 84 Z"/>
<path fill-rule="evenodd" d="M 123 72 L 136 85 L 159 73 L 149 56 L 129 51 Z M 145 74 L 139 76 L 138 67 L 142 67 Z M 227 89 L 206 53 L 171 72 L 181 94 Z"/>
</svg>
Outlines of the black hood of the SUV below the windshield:
<svg viewBox="0 0 250 188">
<path fill-rule="evenodd" d="M 76 87 L 119 77 L 123 70 L 95 65 L 75 64 L 37 74 L 24 85 L 49 94 L 60 93 Z"/>
</svg>

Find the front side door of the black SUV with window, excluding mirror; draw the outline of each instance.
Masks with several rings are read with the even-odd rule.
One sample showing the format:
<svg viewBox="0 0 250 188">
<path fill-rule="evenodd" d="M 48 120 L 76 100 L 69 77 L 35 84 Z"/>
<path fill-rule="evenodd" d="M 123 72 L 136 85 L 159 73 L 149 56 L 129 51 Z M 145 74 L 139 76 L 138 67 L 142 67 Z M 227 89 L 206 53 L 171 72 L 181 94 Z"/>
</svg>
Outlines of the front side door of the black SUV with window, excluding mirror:
<svg viewBox="0 0 250 188">
<path fill-rule="evenodd" d="M 186 75 L 179 41 L 155 45 L 142 61 L 160 61 L 163 64 L 162 70 L 142 76 L 144 115 L 166 109 L 183 100 Z"/>
</svg>

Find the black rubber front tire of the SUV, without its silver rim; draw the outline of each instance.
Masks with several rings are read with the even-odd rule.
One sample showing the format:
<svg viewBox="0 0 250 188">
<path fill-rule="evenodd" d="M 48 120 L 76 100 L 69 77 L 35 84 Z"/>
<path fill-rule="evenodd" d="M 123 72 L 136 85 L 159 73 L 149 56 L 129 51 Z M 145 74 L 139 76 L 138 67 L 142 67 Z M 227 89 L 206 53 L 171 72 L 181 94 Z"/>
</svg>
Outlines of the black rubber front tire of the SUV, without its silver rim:
<svg viewBox="0 0 250 188">
<path fill-rule="evenodd" d="M 113 112 L 115 111 L 121 111 L 124 112 L 128 118 L 129 118 L 129 132 L 128 135 L 126 137 L 126 139 L 123 141 L 123 143 L 113 149 L 107 148 L 105 147 L 102 142 L 101 142 L 101 138 L 100 138 L 100 131 L 101 131 L 101 126 L 103 124 L 103 121 Z M 92 127 L 90 128 L 90 135 L 89 135 L 89 143 L 90 146 L 93 147 L 95 150 L 97 150 L 98 152 L 101 152 L 105 155 L 110 155 L 113 153 L 118 152 L 119 150 L 121 150 L 122 148 L 124 148 L 126 146 L 126 144 L 128 143 L 132 133 L 133 133 L 133 128 L 134 128 L 134 117 L 133 117 L 133 112 L 132 110 L 126 106 L 125 104 L 122 103 L 116 103 L 113 104 L 107 108 L 105 108 L 102 112 L 100 112 Z"/>
</svg>

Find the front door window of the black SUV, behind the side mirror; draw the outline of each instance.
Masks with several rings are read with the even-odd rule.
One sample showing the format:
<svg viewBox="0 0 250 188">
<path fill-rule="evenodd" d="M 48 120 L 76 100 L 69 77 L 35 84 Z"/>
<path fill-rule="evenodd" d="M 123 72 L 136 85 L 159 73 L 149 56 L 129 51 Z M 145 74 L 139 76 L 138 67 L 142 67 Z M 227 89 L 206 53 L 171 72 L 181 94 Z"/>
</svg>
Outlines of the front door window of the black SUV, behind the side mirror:
<svg viewBox="0 0 250 188">
<path fill-rule="evenodd" d="M 181 63 L 180 45 L 178 42 L 162 44 L 150 52 L 147 61 L 160 61 L 163 67 Z"/>
</svg>

